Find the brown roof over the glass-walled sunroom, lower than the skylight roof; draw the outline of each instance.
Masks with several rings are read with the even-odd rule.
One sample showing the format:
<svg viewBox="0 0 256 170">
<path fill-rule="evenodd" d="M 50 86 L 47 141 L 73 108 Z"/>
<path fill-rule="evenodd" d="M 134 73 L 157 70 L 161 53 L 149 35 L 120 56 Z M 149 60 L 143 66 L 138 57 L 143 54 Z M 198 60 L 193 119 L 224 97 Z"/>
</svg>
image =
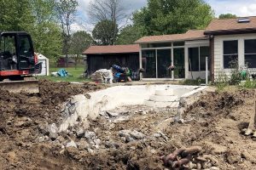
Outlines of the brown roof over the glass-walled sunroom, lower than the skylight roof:
<svg viewBox="0 0 256 170">
<path fill-rule="evenodd" d="M 137 40 L 136 43 L 177 42 L 177 41 L 206 39 L 206 38 L 207 37 L 204 35 L 204 30 L 189 30 L 183 34 L 142 37 L 139 40 Z"/>
</svg>

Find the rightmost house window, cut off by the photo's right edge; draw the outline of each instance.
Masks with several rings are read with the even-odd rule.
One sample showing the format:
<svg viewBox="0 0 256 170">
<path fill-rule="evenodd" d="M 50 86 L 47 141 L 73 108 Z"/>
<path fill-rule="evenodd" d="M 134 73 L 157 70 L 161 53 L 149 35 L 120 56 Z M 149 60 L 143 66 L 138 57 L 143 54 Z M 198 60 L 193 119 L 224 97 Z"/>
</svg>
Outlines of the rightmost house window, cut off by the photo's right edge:
<svg viewBox="0 0 256 170">
<path fill-rule="evenodd" d="M 244 41 L 244 59 L 248 68 L 256 68 L 256 39 Z"/>
</svg>

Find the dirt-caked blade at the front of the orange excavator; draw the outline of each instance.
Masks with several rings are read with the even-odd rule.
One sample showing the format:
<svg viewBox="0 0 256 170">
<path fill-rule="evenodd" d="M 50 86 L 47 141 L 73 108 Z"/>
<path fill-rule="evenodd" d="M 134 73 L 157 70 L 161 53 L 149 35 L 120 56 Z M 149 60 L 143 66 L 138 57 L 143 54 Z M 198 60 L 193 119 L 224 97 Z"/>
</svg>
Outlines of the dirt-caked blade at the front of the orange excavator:
<svg viewBox="0 0 256 170">
<path fill-rule="evenodd" d="M 39 93 L 38 80 L 0 82 L 0 90 L 7 90 L 11 93 L 37 94 Z"/>
</svg>

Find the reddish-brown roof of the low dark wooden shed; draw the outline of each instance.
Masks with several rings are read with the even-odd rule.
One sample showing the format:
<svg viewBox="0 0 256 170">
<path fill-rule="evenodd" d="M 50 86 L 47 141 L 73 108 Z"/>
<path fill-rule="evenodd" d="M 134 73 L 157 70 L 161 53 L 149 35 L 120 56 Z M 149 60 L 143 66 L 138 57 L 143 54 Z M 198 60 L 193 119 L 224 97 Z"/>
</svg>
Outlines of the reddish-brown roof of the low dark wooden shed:
<svg viewBox="0 0 256 170">
<path fill-rule="evenodd" d="M 108 46 L 90 46 L 83 54 L 125 54 L 139 53 L 140 47 L 138 44 L 130 45 L 108 45 Z"/>
</svg>

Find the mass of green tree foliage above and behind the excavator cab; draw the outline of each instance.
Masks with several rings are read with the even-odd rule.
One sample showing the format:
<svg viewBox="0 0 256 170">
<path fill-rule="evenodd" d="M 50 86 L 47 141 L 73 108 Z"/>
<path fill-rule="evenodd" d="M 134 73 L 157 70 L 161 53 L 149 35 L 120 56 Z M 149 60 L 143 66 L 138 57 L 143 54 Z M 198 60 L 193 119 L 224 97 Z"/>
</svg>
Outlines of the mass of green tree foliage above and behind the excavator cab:
<svg viewBox="0 0 256 170">
<path fill-rule="evenodd" d="M 26 31 L 35 51 L 49 59 L 61 54 L 61 29 L 55 20 L 55 0 L 0 0 L 0 30 Z"/>
</svg>

